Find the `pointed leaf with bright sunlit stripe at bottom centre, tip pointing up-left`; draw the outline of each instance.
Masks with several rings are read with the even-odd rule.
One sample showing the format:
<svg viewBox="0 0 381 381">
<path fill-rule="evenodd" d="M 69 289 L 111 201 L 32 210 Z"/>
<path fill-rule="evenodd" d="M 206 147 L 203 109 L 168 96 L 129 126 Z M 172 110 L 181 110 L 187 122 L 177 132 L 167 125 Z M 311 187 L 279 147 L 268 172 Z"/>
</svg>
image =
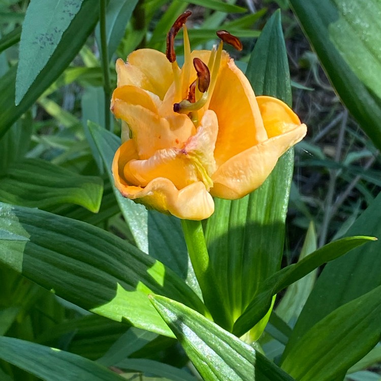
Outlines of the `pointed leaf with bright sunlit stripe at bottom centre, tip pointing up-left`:
<svg viewBox="0 0 381 381">
<path fill-rule="evenodd" d="M 151 297 L 189 359 L 209 381 L 291 381 L 261 353 L 196 311 L 164 297 Z"/>
</svg>

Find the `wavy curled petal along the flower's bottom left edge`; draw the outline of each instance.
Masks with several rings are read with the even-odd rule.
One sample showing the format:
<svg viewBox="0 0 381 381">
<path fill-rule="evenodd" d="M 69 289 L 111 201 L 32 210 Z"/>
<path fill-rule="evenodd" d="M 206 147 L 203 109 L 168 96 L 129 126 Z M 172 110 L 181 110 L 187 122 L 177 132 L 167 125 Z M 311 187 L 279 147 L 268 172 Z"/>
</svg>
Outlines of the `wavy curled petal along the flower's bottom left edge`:
<svg viewBox="0 0 381 381">
<path fill-rule="evenodd" d="M 214 212 L 214 202 L 201 181 L 194 182 L 178 190 L 167 178 L 157 177 L 146 187 L 129 185 L 123 177 L 125 158 L 131 141 L 123 143 L 116 151 L 112 164 L 115 186 L 124 196 L 148 208 L 169 212 L 178 218 L 200 220 Z M 124 147 L 123 147 L 124 146 Z"/>
</svg>

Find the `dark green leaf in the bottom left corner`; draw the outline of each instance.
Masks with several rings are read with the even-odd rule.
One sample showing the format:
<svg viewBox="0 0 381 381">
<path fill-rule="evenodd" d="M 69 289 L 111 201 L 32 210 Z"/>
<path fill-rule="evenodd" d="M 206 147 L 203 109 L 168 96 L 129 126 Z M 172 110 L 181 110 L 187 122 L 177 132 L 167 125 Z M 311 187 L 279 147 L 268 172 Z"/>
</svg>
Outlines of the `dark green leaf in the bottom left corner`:
<svg viewBox="0 0 381 381">
<path fill-rule="evenodd" d="M 13 337 L 0 337 L 0 358 L 45 381 L 125 379 L 78 355 Z"/>
</svg>

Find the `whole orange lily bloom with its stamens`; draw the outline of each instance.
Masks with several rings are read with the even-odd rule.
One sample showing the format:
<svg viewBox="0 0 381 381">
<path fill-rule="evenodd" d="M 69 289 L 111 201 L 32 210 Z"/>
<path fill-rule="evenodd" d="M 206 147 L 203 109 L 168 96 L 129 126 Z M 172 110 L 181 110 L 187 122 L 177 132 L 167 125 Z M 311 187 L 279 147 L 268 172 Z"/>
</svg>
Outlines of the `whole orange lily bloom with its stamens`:
<svg viewBox="0 0 381 381">
<path fill-rule="evenodd" d="M 112 171 L 124 197 L 183 219 L 214 211 L 212 196 L 239 199 L 258 188 L 278 158 L 306 134 L 283 102 L 255 96 L 223 50 L 190 52 L 181 15 L 167 53 L 139 49 L 116 61 L 111 110 L 122 119 L 122 145 Z M 184 65 L 173 49 L 184 29 Z M 225 31 L 217 35 L 240 48 Z"/>
</svg>

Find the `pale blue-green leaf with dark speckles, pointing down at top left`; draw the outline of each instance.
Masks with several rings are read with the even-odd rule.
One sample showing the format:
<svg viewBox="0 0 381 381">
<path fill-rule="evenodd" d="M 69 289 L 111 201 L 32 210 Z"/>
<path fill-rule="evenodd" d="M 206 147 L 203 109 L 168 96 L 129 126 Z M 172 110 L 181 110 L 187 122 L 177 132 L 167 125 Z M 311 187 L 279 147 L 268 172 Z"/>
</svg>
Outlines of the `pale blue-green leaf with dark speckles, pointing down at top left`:
<svg viewBox="0 0 381 381">
<path fill-rule="evenodd" d="M 16 75 L 18 105 L 31 84 L 57 49 L 63 33 L 81 8 L 83 0 L 67 2 L 31 0 L 22 24 L 19 62 Z"/>
</svg>

